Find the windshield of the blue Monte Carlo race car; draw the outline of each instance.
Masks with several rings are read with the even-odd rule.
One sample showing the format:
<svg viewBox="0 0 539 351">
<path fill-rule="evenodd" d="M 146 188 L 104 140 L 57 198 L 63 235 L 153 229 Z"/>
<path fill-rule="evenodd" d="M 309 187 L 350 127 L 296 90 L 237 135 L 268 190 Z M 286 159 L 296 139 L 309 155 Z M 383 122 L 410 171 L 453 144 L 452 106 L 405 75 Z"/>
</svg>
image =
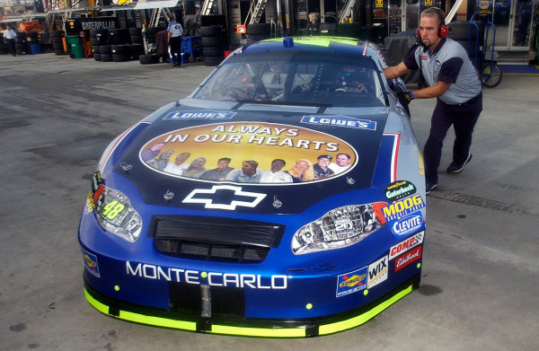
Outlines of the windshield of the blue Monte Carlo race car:
<svg viewBox="0 0 539 351">
<path fill-rule="evenodd" d="M 193 98 L 328 107 L 385 106 L 384 85 L 370 57 L 305 51 L 230 57 Z"/>
</svg>

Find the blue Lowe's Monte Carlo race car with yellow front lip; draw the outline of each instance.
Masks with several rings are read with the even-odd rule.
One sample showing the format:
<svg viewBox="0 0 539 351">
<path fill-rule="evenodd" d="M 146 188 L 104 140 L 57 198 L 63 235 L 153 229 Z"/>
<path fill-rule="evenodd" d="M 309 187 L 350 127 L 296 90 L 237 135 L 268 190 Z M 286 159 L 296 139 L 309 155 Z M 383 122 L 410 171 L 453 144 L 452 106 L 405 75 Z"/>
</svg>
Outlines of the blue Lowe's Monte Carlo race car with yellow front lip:
<svg viewBox="0 0 539 351">
<path fill-rule="evenodd" d="M 165 328 L 295 338 L 410 294 L 423 162 L 384 66 L 356 39 L 252 42 L 118 136 L 80 221 L 87 301 Z"/>
</svg>

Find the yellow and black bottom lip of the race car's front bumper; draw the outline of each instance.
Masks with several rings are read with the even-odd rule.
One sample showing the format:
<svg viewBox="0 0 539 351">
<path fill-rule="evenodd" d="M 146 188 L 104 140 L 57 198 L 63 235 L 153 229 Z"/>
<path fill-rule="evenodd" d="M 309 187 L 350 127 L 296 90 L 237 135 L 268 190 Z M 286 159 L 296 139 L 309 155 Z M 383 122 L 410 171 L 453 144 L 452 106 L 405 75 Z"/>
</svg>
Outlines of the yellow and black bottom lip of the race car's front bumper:
<svg viewBox="0 0 539 351">
<path fill-rule="evenodd" d="M 374 318 L 378 313 L 383 312 L 402 297 L 410 294 L 419 285 L 420 274 L 417 274 L 388 294 L 358 309 L 319 318 L 296 320 L 186 318 L 181 313 L 148 308 L 112 299 L 99 294 L 87 282 L 84 282 L 84 295 L 88 303 L 96 310 L 120 320 L 212 334 L 267 338 L 305 338 L 356 328 Z M 211 308 L 211 301 L 208 303 Z"/>
</svg>

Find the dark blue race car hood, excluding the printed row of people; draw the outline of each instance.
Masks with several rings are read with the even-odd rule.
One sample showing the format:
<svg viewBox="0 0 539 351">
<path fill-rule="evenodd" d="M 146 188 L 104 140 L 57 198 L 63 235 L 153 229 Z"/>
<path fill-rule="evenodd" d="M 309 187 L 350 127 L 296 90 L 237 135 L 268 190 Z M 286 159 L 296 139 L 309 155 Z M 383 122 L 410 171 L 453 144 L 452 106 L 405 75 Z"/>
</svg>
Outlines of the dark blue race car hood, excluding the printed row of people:
<svg viewBox="0 0 539 351">
<path fill-rule="evenodd" d="M 114 178 L 133 183 L 146 204 L 260 214 L 293 214 L 327 197 L 371 186 L 387 110 L 362 115 L 324 115 L 269 110 L 193 110 L 184 106 L 165 110 L 130 140 L 114 165 Z M 152 146 L 162 144 L 158 151 Z M 171 154 L 158 162 L 159 154 Z M 190 153 L 186 162 L 204 158 L 207 170 L 217 160 L 259 163 L 270 170 L 274 159 L 286 160 L 287 171 L 297 160 L 316 164 L 319 155 L 349 154 L 346 171 L 323 180 L 299 183 L 247 183 L 200 180 L 172 173 L 166 166 L 177 155 Z M 166 157 L 164 157 L 166 159 Z M 117 159 L 118 160 L 118 159 Z M 200 160 L 199 160 L 200 161 Z M 160 163 L 160 165 L 157 165 Z M 287 206 L 278 206 L 285 203 Z M 243 204 L 234 206 L 234 204 Z M 245 205 L 246 204 L 246 205 Z"/>
</svg>

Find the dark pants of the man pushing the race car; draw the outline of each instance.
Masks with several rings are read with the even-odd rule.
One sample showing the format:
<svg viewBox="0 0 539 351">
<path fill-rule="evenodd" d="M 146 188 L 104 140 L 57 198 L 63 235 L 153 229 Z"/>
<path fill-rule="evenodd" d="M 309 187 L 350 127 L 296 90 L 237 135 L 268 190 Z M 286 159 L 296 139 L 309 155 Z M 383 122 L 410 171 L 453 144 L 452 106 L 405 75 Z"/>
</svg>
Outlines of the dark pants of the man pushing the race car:
<svg viewBox="0 0 539 351">
<path fill-rule="evenodd" d="M 436 108 L 430 121 L 430 134 L 423 157 L 425 159 L 425 181 L 437 183 L 437 168 L 442 157 L 442 146 L 447 130 L 451 125 L 455 129 L 453 162 L 462 164 L 466 161 L 472 145 L 473 127 L 482 111 L 482 96 L 476 101 L 464 105 L 448 105 L 437 99 Z"/>
</svg>

